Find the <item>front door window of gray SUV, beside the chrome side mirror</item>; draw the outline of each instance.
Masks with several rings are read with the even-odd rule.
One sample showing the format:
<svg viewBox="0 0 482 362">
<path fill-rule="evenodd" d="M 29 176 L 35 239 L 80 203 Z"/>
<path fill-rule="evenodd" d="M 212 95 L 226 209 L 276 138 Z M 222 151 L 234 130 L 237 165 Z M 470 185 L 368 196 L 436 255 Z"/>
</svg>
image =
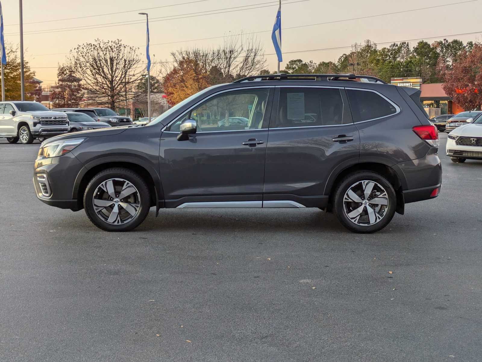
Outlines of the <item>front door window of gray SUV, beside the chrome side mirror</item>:
<svg viewBox="0 0 482 362">
<path fill-rule="evenodd" d="M 214 95 L 181 116 L 167 130 L 179 132 L 180 124 L 195 120 L 197 132 L 241 131 L 264 128 L 269 88 L 245 89 Z"/>
</svg>

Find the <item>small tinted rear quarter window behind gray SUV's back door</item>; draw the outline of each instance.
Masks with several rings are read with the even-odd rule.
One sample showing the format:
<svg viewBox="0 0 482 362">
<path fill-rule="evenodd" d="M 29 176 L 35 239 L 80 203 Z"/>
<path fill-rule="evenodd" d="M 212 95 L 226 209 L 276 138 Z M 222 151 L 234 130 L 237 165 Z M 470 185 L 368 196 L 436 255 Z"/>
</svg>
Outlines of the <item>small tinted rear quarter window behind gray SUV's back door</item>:
<svg viewBox="0 0 482 362">
<path fill-rule="evenodd" d="M 397 113 L 397 108 L 375 92 L 347 89 L 347 95 L 354 122 L 375 120 Z"/>
</svg>

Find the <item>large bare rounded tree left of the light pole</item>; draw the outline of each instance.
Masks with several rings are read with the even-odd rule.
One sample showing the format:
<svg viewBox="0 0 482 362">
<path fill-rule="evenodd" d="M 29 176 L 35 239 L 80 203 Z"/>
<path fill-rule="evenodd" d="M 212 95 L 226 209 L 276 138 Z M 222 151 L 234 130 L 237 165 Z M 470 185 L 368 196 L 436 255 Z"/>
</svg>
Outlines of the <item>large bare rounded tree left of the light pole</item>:
<svg viewBox="0 0 482 362">
<path fill-rule="evenodd" d="M 134 98 L 134 85 L 144 72 L 139 49 L 119 39 L 80 44 L 70 51 L 67 65 L 82 79 L 88 100 L 111 109 Z"/>
</svg>

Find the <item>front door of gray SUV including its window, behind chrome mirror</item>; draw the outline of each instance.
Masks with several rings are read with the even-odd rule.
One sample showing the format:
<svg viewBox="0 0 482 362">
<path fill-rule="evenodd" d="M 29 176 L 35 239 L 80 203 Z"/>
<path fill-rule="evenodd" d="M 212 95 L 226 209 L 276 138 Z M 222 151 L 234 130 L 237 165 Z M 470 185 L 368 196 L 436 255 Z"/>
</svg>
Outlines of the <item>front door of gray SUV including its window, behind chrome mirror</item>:
<svg viewBox="0 0 482 362">
<path fill-rule="evenodd" d="M 214 94 L 161 135 L 160 172 L 166 207 L 261 207 L 274 89 Z M 196 134 L 178 141 L 181 122 Z"/>
</svg>

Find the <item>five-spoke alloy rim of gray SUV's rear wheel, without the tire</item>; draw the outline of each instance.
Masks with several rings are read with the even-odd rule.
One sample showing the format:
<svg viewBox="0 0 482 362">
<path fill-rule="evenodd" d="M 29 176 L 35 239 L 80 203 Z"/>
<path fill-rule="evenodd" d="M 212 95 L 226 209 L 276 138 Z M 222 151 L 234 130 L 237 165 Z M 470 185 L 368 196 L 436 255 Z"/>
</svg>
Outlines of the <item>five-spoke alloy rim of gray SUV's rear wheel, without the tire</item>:
<svg viewBox="0 0 482 362">
<path fill-rule="evenodd" d="M 358 181 L 345 193 L 343 209 L 345 215 L 354 224 L 374 225 L 387 214 L 387 191 L 375 181 Z"/>
</svg>

